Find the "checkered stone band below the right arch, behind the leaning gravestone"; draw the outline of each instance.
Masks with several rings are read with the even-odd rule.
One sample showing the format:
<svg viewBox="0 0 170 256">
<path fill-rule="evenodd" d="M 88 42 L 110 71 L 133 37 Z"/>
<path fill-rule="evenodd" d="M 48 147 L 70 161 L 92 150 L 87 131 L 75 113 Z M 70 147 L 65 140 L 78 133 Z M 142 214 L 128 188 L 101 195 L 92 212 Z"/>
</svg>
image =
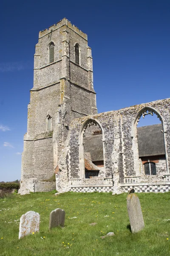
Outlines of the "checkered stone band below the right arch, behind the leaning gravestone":
<svg viewBox="0 0 170 256">
<path fill-rule="evenodd" d="M 139 185 L 139 186 L 122 186 L 123 192 L 128 192 L 130 189 L 135 189 L 135 192 L 141 193 L 141 192 L 169 192 L 170 191 L 170 184 L 168 185 Z"/>
</svg>

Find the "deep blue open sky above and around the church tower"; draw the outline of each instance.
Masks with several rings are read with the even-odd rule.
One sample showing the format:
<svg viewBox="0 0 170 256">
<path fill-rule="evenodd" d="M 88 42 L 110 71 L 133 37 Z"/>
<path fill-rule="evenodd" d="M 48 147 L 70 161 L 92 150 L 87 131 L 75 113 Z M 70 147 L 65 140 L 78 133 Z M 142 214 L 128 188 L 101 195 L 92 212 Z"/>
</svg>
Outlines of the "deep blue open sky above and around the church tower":
<svg viewBox="0 0 170 256">
<path fill-rule="evenodd" d="M 1 1 L 0 181 L 20 179 L 34 46 L 66 17 L 88 34 L 98 112 L 170 97 L 170 1 Z"/>
</svg>

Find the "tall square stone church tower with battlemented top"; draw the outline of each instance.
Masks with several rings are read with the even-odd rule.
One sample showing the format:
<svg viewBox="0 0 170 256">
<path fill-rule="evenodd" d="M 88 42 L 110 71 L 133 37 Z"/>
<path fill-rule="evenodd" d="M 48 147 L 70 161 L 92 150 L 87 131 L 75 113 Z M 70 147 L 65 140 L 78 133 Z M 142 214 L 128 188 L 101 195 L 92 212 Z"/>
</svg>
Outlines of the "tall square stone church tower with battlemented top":
<svg viewBox="0 0 170 256">
<path fill-rule="evenodd" d="M 97 113 L 87 35 L 66 18 L 39 33 L 30 91 L 21 194 L 50 190 L 43 180 L 57 172 L 67 180 L 69 124 Z"/>
</svg>

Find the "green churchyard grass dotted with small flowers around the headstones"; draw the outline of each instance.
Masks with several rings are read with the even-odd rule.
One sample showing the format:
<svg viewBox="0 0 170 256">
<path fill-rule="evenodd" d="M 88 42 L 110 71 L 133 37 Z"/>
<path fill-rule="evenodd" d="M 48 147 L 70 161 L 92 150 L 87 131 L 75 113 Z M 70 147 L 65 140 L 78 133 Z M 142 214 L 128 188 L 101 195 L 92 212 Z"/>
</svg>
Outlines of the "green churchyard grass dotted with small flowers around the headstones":
<svg viewBox="0 0 170 256">
<path fill-rule="evenodd" d="M 145 228 L 137 234 L 128 228 L 125 193 L 48 192 L 0 199 L 0 255 L 169 256 L 170 193 L 138 196 Z M 65 227 L 49 231 L 49 214 L 56 208 L 65 210 Z M 30 210 L 40 213 L 40 232 L 18 240 L 20 216 Z M 115 236 L 101 239 L 108 232 Z"/>
</svg>

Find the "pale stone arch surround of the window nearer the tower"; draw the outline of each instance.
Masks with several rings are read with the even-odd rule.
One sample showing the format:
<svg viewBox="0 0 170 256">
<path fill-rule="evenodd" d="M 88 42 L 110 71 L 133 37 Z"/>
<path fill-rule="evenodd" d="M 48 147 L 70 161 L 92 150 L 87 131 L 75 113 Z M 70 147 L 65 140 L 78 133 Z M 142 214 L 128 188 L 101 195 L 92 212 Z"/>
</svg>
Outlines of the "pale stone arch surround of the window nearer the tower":
<svg viewBox="0 0 170 256">
<path fill-rule="evenodd" d="M 95 119 L 88 119 L 83 123 L 83 125 L 80 129 L 80 133 L 79 133 L 79 169 L 80 169 L 80 178 L 81 179 L 85 178 L 84 136 L 85 136 L 86 129 L 88 127 L 90 127 L 91 125 L 98 126 L 102 133 L 103 161 L 104 161 L 104 168 L 105 168 L 105 147 L 104 147 L 105 137 L 104 137 L 102 125 L 100 124 L 99 121 L 97 121 Z"/>
</svg>

